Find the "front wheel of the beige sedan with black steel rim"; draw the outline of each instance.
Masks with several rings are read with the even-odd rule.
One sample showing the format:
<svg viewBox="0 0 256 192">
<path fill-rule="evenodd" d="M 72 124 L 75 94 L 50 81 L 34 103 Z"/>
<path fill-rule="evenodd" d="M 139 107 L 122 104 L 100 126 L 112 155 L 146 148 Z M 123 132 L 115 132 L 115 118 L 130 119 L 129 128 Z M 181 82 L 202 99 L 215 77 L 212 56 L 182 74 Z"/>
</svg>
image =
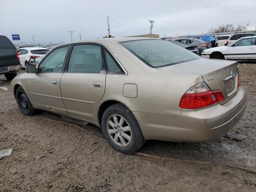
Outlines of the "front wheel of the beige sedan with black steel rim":
<svg viewBox="0 0 256 192">
<path fill-rule="evenodd" d="M 16 90 L 16 101 L 24 115 L 32 116 L 36 112 L 22 87 L 18 87 Z"/>
</svg>

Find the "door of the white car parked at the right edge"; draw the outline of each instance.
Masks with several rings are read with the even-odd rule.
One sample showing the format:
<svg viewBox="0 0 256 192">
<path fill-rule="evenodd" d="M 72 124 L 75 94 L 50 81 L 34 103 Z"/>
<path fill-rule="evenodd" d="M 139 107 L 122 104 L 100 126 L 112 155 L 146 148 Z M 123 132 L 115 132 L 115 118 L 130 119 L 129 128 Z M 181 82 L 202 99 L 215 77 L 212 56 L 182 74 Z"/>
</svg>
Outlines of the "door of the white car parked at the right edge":
<svg viewBox="0 0 256 192">
<path fill-rule="evenodd" d="M 252 59 L 254 58 L 256 38 L 245 38 L 228 47 L 228 59 Z"/>
</svg>

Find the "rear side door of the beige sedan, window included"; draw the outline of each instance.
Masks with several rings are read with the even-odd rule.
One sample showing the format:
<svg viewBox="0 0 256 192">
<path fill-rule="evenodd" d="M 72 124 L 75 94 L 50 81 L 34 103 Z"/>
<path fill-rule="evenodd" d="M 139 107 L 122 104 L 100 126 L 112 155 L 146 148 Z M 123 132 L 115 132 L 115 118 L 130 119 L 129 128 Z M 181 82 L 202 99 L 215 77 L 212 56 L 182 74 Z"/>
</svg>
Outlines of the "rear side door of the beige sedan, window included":
<svg viewBox="0 0 256 192">
<path fill-rule="evenodd" d="M 61 78 L 62 100 L 70 116 L 97 122 L 96 107 L 105 92 L 106 70 L 102 46 L 74 44 Z"/>
</svg>

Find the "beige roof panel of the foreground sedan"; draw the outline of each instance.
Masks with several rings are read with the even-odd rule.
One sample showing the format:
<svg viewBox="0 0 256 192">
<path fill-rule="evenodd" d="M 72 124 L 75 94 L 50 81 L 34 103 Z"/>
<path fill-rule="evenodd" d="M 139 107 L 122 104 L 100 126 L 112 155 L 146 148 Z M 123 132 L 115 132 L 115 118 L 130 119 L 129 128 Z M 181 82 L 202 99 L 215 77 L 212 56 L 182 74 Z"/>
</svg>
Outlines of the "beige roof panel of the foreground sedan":
<svg viewBox="0 0 256 192">
<path fill-rule="evenodd" d="M 101 39 L 72 41 L 72 42 L 60 44 L 58 46 L 74 44 L 74 43 L 86 43 L 86 42 L 95 42 L 95 43 L 101 43 L 101 44 L 104 44 L 105 42 L 111 42 L 113 44 L 119 44 L 120 42 L 125 42 L 125 41 L 150 40 L 150 39 L 152 39 L 152 40 L 162 40 L 162 39 L 158 39 L 158 38 L 147 38 L 147 37 L 118 37 L 118 38 L 101 38 Z M 56 47 L 58 47 L 58 46 L 56 46 Z"/>
</svg>

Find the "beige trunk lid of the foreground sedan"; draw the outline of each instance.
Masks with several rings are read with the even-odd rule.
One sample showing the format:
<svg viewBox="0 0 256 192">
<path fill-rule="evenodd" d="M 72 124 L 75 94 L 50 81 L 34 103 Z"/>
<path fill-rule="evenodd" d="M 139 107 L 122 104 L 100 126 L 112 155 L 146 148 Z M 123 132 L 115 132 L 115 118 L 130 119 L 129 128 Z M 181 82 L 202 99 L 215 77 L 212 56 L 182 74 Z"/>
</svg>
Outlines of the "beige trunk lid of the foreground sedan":
<svg viewBox="0 0 256 192">
<path fill-rule="evenodd" d="M 211 90 L 221 90 L 224 100 L 228 102 L 238 92 L 238 64 L 236 61 L 199 58 L 159 70 L 201 75 Z"/>
</svg>

